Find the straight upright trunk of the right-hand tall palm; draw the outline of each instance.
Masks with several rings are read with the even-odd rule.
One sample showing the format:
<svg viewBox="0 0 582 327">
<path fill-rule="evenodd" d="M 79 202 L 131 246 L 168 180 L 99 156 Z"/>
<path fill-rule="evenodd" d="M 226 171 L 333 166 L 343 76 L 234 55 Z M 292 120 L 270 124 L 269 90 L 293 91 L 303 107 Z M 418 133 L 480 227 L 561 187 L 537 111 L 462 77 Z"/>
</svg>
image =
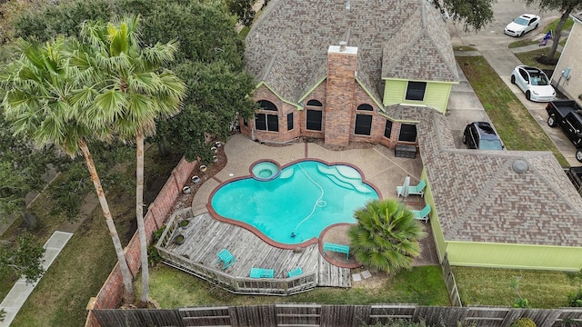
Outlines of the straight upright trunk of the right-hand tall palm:
<svg viewBox="0 0 582 327">
<path fill-rule="evenodd" d="M 146 225 L 144 223 L 144 133 L 138 132 L 135 137 L 135 219 L 139 233 L 139 249 L 142 261 L 142 294 L 140 306 L 147 306 L 149 293 L 149 268 L 147 266 Z"/>
</svg>

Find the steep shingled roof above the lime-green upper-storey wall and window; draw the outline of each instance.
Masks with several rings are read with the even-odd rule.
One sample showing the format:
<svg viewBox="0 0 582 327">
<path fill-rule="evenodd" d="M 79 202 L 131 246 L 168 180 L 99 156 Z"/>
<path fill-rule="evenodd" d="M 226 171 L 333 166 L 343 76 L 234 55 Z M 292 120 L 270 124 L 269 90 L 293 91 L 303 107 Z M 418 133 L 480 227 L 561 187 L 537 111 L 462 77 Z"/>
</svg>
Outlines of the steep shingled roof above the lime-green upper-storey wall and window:
<svg viewBox="0 0 582 327">
<path fill-rule="evenodd" d="M 420 5 L 384 46 L 382 78 L 457 82 L 455 54 L 442 20 Z"/>
</svg>

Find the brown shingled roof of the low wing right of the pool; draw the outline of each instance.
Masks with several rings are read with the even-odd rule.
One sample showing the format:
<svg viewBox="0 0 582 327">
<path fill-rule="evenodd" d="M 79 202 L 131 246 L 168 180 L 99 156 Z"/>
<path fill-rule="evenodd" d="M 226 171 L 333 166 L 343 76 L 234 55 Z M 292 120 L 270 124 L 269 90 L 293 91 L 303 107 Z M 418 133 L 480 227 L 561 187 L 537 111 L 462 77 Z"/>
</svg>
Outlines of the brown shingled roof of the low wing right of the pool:
<svg viewBox="0 0 582 327">
<path fill-rule="evenodd" d="M 553 154 L 455 149 L 446 118 L 427 111 L 418 144 L 447 241 L 582 245 L 582 198 Z"/>
</svg>

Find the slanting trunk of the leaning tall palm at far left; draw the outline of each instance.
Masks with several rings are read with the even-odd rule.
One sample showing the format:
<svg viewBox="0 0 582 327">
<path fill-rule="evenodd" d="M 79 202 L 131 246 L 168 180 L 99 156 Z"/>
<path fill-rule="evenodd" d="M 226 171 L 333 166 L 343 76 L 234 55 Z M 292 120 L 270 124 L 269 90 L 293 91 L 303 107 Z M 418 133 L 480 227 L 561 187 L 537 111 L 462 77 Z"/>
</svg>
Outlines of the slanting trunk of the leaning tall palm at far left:
<svg viewBox="0 0 582 327">
<path fill-rule="evenodd" d="M 109 228 L 109 234 L 111 234 L 111 239 L 113 240 L 113 245 L 115 247 L 115 253 L 117 254 L 117 263 L 119 263 L 119 269 L 121 270 L 121 275 L 123 276 L 124 282 L 123 302 L 133 303 L 135 302 L 134 285 L 132 284 L 133 276 L 129 271 L 129 266 L 127 265 L 127 262 L 125 261 L 124 249 L 121 246 L 119 235 L 117 234 L 117 230 L 115 229 L 115 223 L 113 221 L 113 217 L 111 216 L 111 212 L 109 211 L 107 199 L 105 199 L 105 193 L 103 192 L 103 187 L 101 186 L 101 180 L 99 179 L 99 175 L 97 174 L 97 170 L 95 169 L 93 156 L 91 155 L 91 153 L 89 153 L 89 148 L 87 147 L 85 139 L 81 139 L 79 141 L 79 147 L 81 148 L 83 156 L 85 156 L 87 169 L 89 169 L 89 173 L 91 173 L 91 181 L 93 181 L 93 184 L 95 185 L 97 198 L 99 199 L 99 203 L 101 204 L 101 210 L 103 211 L 103 215 L 105 216 L 105 223 L 107 223 L 107 227 Z"/>
</svg>

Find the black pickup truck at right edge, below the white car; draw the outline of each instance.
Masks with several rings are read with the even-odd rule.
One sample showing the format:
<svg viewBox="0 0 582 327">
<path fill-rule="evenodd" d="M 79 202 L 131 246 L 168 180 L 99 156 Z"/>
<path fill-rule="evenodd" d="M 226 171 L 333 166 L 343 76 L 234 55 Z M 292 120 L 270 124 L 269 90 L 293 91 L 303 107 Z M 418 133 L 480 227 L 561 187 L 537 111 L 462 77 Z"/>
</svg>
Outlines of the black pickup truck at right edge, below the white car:
<svg viewBox="0 0 582 327">
<path fill-rule="evenodd" d="M 562 128 L 567 138 L 576 145 L 576 159 L 582 163 L 582 108 L 573 100 L 547 103 L 547 125 Z"/>
</svg>

